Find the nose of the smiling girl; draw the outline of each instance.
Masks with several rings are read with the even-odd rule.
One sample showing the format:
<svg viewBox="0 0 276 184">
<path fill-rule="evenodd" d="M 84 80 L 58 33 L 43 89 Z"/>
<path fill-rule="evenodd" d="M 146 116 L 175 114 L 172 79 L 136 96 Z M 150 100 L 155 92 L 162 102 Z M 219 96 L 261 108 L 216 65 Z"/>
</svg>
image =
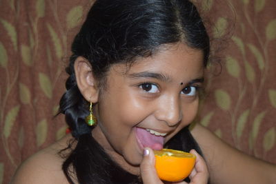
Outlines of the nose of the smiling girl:
<svg viewBox="0 0 276 184">
<path fill-rule="evenodd" d="M 165 121 L 168 126 L 175 126 L 182 119 L 181 101 L 179 96 L 165 96 L 160 99 L 155 118 Z"/>
</svg>

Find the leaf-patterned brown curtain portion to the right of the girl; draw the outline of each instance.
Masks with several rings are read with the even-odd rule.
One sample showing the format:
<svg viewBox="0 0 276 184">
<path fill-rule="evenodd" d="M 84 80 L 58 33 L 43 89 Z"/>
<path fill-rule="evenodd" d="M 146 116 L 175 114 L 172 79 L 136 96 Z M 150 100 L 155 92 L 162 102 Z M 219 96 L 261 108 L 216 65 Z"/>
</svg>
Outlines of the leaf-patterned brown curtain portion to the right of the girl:
<svg viewBox="0 0 276 184">
<path fill-rule="evenodd" d="M 276 163 L 276 3 L 227 2 L 203 1 L 208 16 L 217 17 L 212 38 L 227 38 L 231 17 L 235 28 L 226 50 L 220 50 L 221 73 L 208 74 L 200 123 L 239 150 Z"/>
</svg>

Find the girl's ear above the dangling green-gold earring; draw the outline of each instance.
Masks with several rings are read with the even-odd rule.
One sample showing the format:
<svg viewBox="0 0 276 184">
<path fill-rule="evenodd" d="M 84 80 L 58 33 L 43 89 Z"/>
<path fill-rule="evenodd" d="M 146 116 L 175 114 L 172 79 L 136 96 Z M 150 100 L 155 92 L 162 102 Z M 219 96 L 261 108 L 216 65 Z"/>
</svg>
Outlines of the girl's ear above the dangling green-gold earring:
<svg viewBox="0 0 276 184">
<path fill-rule="evenodd" d="M 86 101 L 97 103 L 99 89 L 97 81 L 92 73 L 92 66 L 89 61 L 83 57 L 77 57 L 74 63 L 77 86 Z"/>
</svg>

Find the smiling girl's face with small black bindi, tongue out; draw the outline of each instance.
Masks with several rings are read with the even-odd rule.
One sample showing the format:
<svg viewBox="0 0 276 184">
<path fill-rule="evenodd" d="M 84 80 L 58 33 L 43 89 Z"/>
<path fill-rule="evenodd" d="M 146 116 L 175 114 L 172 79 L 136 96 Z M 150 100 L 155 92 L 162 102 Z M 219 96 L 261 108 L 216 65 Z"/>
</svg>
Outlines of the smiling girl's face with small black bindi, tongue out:
<svg viewBox="0 0 276 184">
<path fill-rule="evenodd" d="M 121 166 L 137 166 L 144 147 L 160 150 L 197 114 L 203 53 L 179 43 L 130 68 L 113 65 L 95 107 L 92 135 Z"/>
</svg>

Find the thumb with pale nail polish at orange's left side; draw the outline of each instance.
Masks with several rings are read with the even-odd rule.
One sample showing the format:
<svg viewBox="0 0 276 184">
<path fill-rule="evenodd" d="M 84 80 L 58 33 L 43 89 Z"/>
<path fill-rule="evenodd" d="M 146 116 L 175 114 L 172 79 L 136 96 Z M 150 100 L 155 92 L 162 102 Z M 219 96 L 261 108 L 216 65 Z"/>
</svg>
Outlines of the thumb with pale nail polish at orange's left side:
<svg viewBox="0 0 276 184">
<path fill-rule="evenodd" d="M 155 155 L 149 147 L 144 149 L 144 157 L 141 161 L 140 170 L 144 184 L 162 183 L 155 170 Z"/>
</svg>

